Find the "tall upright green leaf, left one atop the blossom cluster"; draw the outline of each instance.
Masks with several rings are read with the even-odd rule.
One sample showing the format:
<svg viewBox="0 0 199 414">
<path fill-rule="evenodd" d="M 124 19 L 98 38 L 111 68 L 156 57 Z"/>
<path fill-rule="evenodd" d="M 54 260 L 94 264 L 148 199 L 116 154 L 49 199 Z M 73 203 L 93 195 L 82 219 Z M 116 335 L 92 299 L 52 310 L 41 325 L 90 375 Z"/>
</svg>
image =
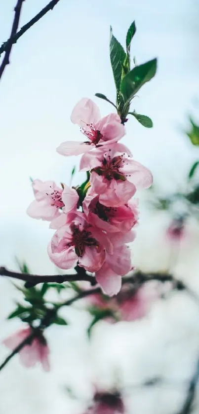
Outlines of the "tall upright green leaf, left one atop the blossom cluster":
<svg viewBox="0 0 199 414">
<path fill-rule="evenodd" d="M 115 36 L 113 35 L 112 27 L 111 27 L 110 59 L 111 59 L 111 66 L 112 66 L 117 90 L 120 89 L 120 83 L 121 83 L 122 71 L 123 71 L 122 65 L 124 64 L 125 58 L 126 58 L 126 54 L 124 52 L 124 49 L 119 43 L 119 41 L 117 40 L 117 38 L 115 38 Z"/>
</svg>

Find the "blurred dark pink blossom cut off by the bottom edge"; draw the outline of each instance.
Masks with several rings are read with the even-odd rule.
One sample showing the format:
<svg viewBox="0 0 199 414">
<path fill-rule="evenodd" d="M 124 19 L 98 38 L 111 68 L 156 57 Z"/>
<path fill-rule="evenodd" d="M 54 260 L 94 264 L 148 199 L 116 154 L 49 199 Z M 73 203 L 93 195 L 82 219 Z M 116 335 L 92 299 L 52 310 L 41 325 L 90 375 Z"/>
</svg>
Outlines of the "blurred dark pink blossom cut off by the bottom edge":
<svg viewBox="0 0 199 414">
<path fill-rule="evenodd" d="M 123 401 L 119 394 L 98 392 L 84 414 L 124 414 Z"/>
</svg>

